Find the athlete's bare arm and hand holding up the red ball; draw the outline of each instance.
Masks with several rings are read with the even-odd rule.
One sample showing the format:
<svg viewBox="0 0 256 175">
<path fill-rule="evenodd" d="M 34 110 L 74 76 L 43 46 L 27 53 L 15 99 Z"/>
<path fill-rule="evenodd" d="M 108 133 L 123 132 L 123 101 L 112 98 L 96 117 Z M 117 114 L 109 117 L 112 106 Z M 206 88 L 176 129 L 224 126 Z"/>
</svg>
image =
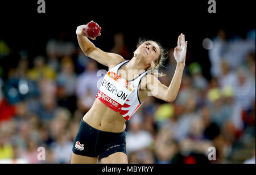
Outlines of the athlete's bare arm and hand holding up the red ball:
<svg viewBox="0 0 256 175">
<path fill-rule="evenodd" d="M 96 46 L 88 39 L 88 37 L 85 35 L 84 28 L 86 25 L 80 25 L 76 29 L 76 35 L 77 40 L 79 42 L 79 46 L 82 49 L 82 52 L 84 54 L 95 61 L 101 63 L 105 66 L 115 66 L 118 63 L 125 61 L 122 56 L 115 53 L 107 53 L 102 51 L 99 48 L 96 48 Z M 96 38 L 93 38 L 92 40 L 95 40 Z"/>
</svg>

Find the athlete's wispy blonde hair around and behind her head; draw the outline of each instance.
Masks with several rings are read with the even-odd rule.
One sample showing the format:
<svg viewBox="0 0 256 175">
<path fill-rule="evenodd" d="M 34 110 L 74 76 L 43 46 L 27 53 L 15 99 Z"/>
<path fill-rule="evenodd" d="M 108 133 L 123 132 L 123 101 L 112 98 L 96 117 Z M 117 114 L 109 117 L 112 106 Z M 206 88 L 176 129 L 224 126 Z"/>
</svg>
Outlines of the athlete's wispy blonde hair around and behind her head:
<svg viewBox="0 0 256 175">
<path fill-rule="evenodd" d="M 154 70 L 158 70 L 160 66 L 163 66 L 163 63 L 164 61 L 166 60 L 166 58 L 168 57 L 168 53 L 167 53 L 167 50 L 163 48 L 163 46 L 160 44 L 159 41 L 155 41 L 155 40 L 149 40 L 149 39 L 146 39 L 146 38 L 143 38 L 143 37 L 140 37 L 139 38 L 139 41 L 137 43 L 137 48 L 142 45 L 144 42 L 146 41 L 153 41 L 155 42 L 159 48 L 160 48 L 160 54 L 159 54 L 159 57 L 158 59 L 156 59 L 155 63 L 156 63 L 156 66 L 152 65 L 151 64 L 151 67 L 149 67 L 147 70 L 149 70 L 151 72 L 151 74 L 153 74 Z M 163 74 L 158 74 L 157 76 L 163 76 Z"/>
</svg>

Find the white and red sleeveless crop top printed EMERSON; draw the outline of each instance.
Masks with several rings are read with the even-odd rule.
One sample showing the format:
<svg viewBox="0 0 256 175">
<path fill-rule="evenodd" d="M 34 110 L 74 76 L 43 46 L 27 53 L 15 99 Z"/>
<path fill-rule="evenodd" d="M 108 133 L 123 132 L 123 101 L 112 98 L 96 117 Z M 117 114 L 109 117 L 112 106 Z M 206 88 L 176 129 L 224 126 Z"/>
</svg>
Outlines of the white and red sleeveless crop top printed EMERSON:
<svg viewBox="0 0 256 175">
<path fill-rule="evenodd" d="M 97 99 L 120 113 L 126 120 L 129 120 L 143 103 L 139 101 L 139 85 L 143 76 L 147 74 L 145 71 L 130 81 L 122 78 L 118 75 L 118 70 L 128 62 L 121 62 L 106 73 L 96 95 Z"/>
</svg>

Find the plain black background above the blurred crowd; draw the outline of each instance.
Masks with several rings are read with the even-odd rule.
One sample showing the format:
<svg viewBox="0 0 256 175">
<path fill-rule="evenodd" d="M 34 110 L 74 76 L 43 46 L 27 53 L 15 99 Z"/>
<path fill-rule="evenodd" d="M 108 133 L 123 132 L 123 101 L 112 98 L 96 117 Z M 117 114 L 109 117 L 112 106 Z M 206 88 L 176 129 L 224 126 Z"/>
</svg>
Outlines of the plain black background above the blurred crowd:
<svg viewBox="0 0 256 175">
<path fill-rule="evenodd" d="M 212 39 L 218 29 L 225 29 L 228 39 L 245 37 L 255 28 L 253 1 L 216 0 L 216 14 L 208 13 L 208 0 L 201 1 L 49 1 L 46 14 L 38 14 L 38 1 L 1 1 L 0 39 L 13 50 L 27 50 L 29 59 L 45 55 L 46 42 L 67 34 L 67 40 L 77 43 L 76 27 L 94 20 L 101 27 L 101 36 L 94 44 L 104 51 L 113 46 L 116 32 L 125 34 L 127 49 L 132 53 L 139 37 L 159 40 L 165 48 L 177 44 L 177 36 L 185 34 L 188 40 L 187 63 L 203 65 L 203 74 L 209 79 L 208 52 L 202 46 L 206 37 Z M 193 50 L 193 52 L 191 52 Z M 15 57 L 12 57 L 15 59 Z M 18 57 L 17 57 L 18 59 Z M 9 62 L 10 61 L 10 62 Z M 16 60 L 9 60 L 12 67 Z"/>
</svg>

